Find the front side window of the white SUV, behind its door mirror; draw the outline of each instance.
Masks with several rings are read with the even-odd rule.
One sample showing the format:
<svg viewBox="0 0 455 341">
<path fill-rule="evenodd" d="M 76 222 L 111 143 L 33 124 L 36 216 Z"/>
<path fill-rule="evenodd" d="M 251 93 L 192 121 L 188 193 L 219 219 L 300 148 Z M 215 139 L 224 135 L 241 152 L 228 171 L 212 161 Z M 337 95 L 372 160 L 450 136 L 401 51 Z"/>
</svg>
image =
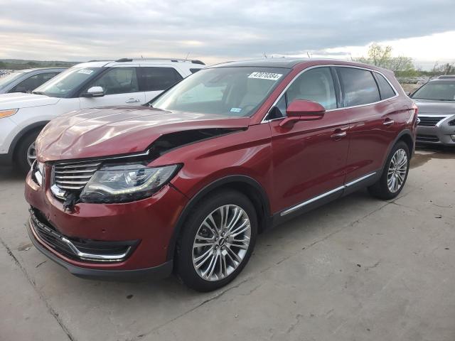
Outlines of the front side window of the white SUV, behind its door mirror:
<svg viewBox="0 0 455 341">
<path fill-rule="evenodd" d="M 85 91 L 90 87 L 102 87 L 105 90 L 105 94 L 139 92 L 136 67 L 113 67 L 95 82 L 92 82 Z"/>
</svg>

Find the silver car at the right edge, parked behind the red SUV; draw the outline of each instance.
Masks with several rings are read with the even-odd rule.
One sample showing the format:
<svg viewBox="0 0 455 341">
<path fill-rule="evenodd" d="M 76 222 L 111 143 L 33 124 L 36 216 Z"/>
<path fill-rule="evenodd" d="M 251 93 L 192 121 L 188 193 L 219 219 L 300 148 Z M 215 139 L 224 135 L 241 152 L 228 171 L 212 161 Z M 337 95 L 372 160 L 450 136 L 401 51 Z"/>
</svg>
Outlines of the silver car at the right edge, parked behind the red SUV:
<svg viewBox="0 0 455 341">
<path fill-rule="evenodd" d="M 419 107 L 417 142 L 455 146 L 455 75 L 430 80 L 410 97 Z"/>
</svg>

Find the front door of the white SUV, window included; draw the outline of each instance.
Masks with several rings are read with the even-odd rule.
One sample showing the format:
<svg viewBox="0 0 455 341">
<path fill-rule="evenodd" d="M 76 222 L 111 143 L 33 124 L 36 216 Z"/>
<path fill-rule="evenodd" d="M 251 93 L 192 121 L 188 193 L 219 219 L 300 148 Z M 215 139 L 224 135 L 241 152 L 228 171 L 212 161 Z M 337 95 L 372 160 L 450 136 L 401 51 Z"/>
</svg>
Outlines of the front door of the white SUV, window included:
<svg viewBox="0 0 455 341">
<path fill-rule="evenodd" d="M 109 105 L 141 105 L 145 94 L 139 90 L 138 65 L 118 65 L 110 67 L 99 77 L 85 86 L 80 94 L 80 108 L 105 107 Z M 84 97 L 90 87 L 102 87 L 104 96 Z"/>
</svg>

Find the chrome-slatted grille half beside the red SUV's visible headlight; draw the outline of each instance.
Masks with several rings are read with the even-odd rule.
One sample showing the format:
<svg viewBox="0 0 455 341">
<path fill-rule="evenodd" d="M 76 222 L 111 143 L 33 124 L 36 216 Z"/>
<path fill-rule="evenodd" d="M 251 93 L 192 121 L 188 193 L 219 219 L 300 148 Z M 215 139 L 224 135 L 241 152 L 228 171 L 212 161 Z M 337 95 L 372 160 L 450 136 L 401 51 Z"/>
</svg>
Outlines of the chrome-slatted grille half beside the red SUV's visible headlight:
<svg viewBox="0 0 455 341">
<path fill-rule="evenodd" d="M 62 190 L 82 190 L 100 166 L 99 161 L 57 163 L 53 166 L 53 181 Z"/>
</svg>

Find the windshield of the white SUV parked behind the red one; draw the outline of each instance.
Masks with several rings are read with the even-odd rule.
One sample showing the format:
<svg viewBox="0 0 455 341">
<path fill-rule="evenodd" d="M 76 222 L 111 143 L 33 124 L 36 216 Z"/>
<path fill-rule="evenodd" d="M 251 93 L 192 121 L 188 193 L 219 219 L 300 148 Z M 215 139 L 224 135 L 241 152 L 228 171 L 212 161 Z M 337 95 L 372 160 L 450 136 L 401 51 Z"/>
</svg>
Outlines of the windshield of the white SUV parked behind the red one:
<svg viewBox="0 0 455 341">
<path fill-rule="evenodd" d="M 53 77 L 41 87 L 36 88 L 33 94 L 45 94 L 50 97 L 65 97 L 76 87 L 100 72 L 101 67 L 71 67 Z"/>
</svg>

